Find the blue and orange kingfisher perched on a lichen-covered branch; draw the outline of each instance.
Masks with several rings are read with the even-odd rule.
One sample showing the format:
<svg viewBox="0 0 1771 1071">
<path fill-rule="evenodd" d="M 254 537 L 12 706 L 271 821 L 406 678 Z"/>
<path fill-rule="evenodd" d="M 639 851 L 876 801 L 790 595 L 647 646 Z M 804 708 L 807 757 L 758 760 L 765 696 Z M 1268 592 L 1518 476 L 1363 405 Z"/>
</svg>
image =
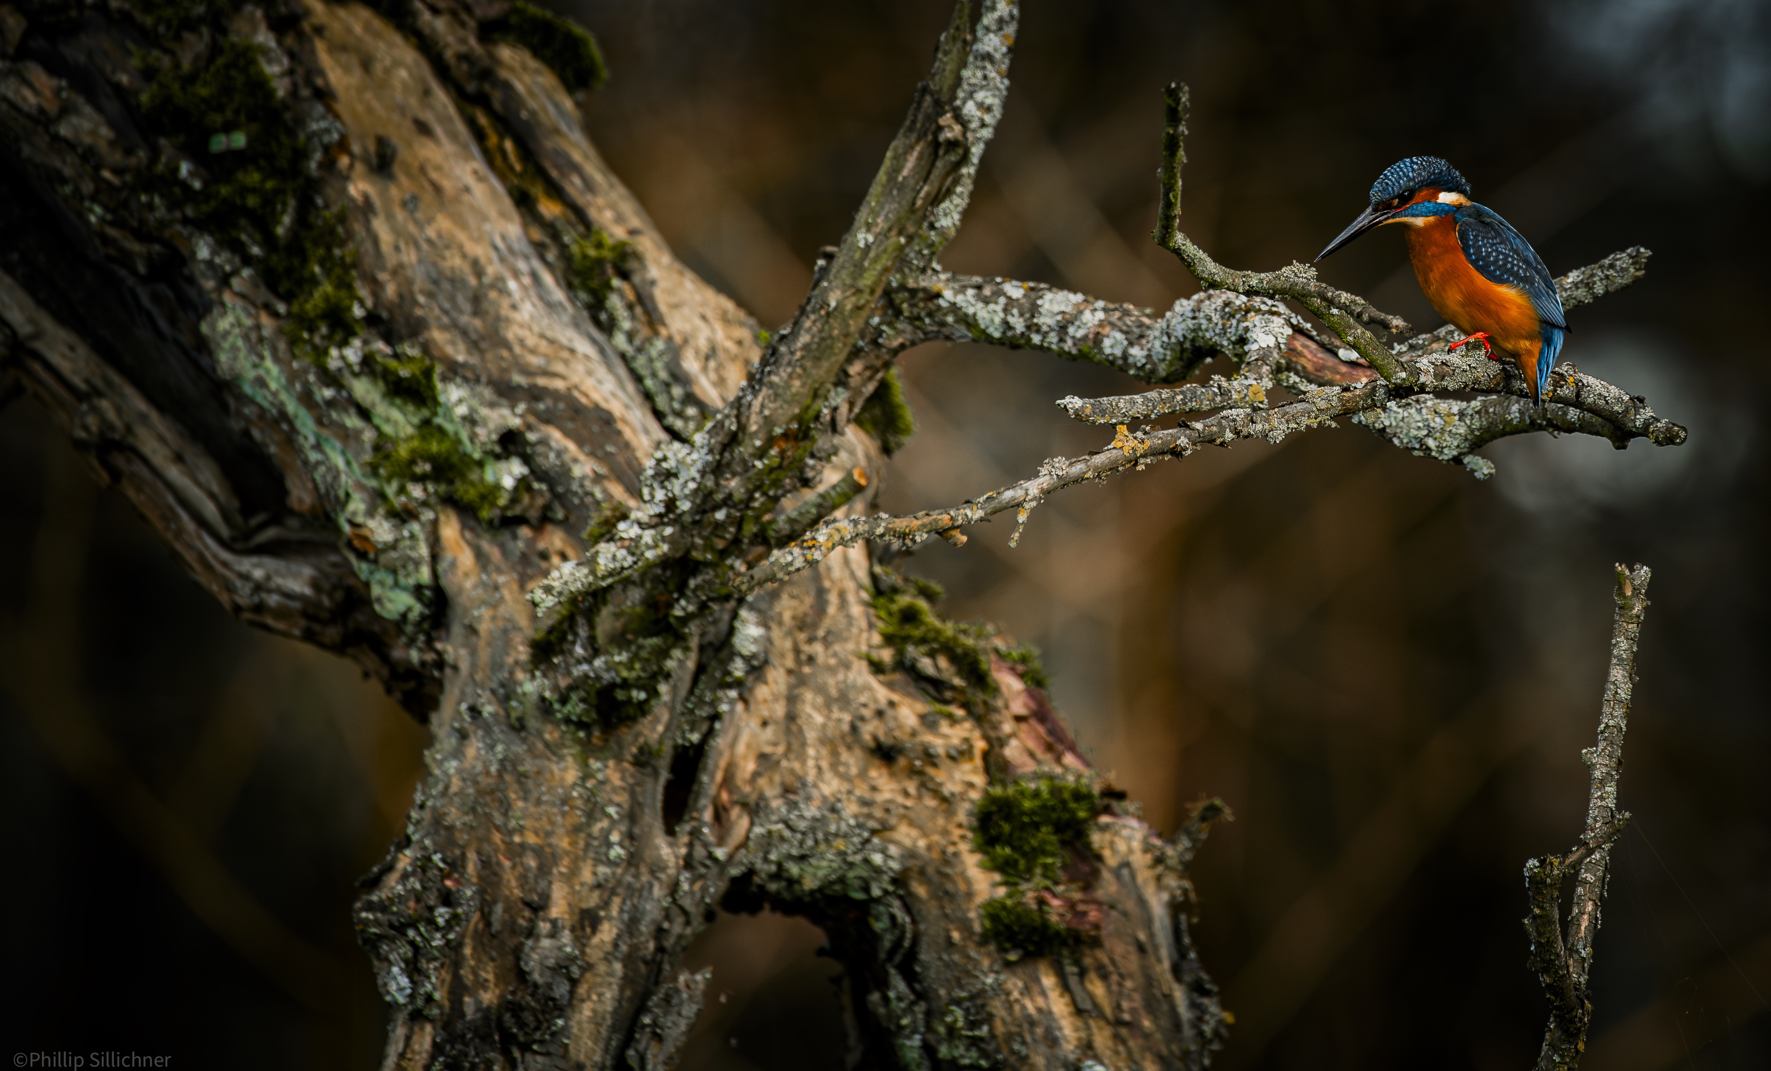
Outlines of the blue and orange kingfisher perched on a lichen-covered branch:
<svg viewBox="0 0 1771 1071">
<path fill-rule="evenodd" d="M 1427 301 L 1498 361 L 1518 363 L 1541 404 L 1550 368 L 1562 352 L 1567 319 L 1543 257 L 1500 212 L 1470 200 L 1470 184 L 1436 156 L 1394 163 L 1371 188 L 1371 207 L 1348 225 L 1318 260 L 1373 227 L 1404 223 L 1408 258 Z"/>
</svg>

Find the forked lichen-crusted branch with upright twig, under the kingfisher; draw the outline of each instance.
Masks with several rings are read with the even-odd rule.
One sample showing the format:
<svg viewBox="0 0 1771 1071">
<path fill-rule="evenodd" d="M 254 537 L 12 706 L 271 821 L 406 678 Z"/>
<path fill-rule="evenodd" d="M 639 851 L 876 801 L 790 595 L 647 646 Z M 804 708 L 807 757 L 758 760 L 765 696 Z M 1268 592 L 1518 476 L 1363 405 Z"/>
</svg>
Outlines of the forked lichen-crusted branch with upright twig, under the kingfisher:
<svg viewBox="0 0 1771 1071">
<path fill-rule="evenodd" d="M 1530 388 L 1516 368 L 1450 352 L 1454 327 L 1385 347 L 1364 324 L 1397 333 L 1410 331 L 1408 324 L 1357 294 L 1318 281 L 1312 269 L 1293 264 L 1273 273 L 1250 273 L 1211 260 L 1179 228 L 1187 101 L 1187 87 L 1169 83 L 1164 92 L 1153 237 L 1206 287 L 1201 294 L 1176 301 L 1167 315 L 1156 319 L 1148 310 L 1043 283 L 932 271 L 903 278 L 886 292 L 894 315 L 875 319 L 870 343 L 884 352 L 900 352 L 933 338 L 1041 349 L 1109 365 L 1144 382 L 1185 379 L 1213 354 L 1229 356 L 1240 372 L 1233 379 L 1213 377 L 1204 384 L 1142 395 L 1063 398 L 1059 405 L 1077 420 L 1118 425 L 1112 444 L 1082 458 L 1050 458 L 1029 480 L 953 508 L 909 517 L 827 520 L 739 575 L 733 589 L 740 595 L 756 591 L 861 540 L 912 545 L 930 535 L 947 535 L 958 543 L 963 542 L 956 535 L 960 526 L 1006 510 L 1018 513 L 1009 540 L 1013 547 L 1029 510 L 1054 490 L 1142 469 L 1151 460 L 1187 457 L 1206 444 L 1229 446 L 1238 439 L 1279 443 L 1291 432 L 1334 427 L 1337 416 L 1351 416 L 1411 453 L 1459 462 L 1477 478 L 1489 476 L 1493 464 L 1477 457 L 1475 450 L 1527 432 L 1580 432 L 1603 437 L 1619 450 L 1636 437 L 1656 446 L 1684 443 L 1686 430 L 1658 416 L 1645 398 L 1585 375 L 1571 363 L 1551 374 L 1544 404 L 1527 404 Z M 1647 250 L 1635 246 L 1567 273 L 1557 280 L 1564 306 L 1574 308 L 1635 283 L 1647 257 Z M 1351 349 L 1325 349 L 1314 329 L 1277 301 L 1280 297 L 1302 303 Z M 1270 409 L 1268 391 L 1275 382 L 1302 397 Z M 1447 400 L 1427 391 L 1491 397 Z M 1130 430 L 1133 421 L 1210 409 L 1220 412 L 1169 430 Z"/>
</svg>

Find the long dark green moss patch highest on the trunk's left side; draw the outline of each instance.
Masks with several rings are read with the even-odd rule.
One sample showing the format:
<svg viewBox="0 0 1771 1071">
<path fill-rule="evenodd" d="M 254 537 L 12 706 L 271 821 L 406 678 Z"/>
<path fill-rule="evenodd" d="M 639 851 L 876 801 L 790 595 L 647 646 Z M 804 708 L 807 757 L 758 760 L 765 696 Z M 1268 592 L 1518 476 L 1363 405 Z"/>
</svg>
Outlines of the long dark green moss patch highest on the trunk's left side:
<svg viewBox="0 0 1771 1071">
<path fill-rule="evenodd" d="M 319 202 L 312 147 L 278 99 L 262 50 L 227 39 L 204 65 L 159 62 L 149 74 L 143 119 L 200 168 L 165 165 L 154 195 L 289 303 L 283 329 L 296 352 L 321 359 L 356 338 L 363 312 L 344 214 Z M 216 135 L 225 149 L 213 152 Z"/>
</svg>

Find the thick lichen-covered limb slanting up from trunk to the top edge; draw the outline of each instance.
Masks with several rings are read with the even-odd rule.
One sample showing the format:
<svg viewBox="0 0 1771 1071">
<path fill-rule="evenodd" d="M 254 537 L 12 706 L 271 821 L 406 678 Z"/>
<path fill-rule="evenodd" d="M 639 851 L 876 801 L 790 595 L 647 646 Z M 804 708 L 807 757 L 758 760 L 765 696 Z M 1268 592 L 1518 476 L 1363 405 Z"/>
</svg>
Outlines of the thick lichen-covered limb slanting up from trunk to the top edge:
<svg viewBox="0 0 1771 1071">
<path fill-rule="evenodd" d="M 958 228 L 1001 117 L 1017 18 L 1008 0 L 985 0 L 976 23 L 969 0 L 955 5 L 928 80 L 795 319 L 692 443 L 652 457 L 639 505 L 611 538 L 535 589 L 542 613 L 664 561 L 742 558 L 767 543 L 765 533 L 779 528 L 769 513 L 818 478 L 836 448 L 829 432 L 847 428 L 886 372 L 889 358 L 855 365 L 852 356 L 887 281 L 924 271 Z M 721 589 L 708 579 L 685 605 Z"/>
</svg>

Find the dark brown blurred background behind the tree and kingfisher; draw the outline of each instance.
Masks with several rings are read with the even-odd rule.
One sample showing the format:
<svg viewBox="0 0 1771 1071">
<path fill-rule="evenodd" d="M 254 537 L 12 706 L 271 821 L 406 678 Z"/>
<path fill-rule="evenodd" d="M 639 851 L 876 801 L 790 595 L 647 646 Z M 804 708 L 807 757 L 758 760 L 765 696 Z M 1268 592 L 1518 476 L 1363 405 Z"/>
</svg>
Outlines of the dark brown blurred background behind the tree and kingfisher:
<svg viewBox="0 0 1771 1071">
<path fill-rule="evenodd" d="M 678 253 L 765 324 L 804 294 L 926 71 L 944 0 L 561 4 L 613 78 L 586 120 Z M 1195 864 L 1217 1066 L 1518 1069 L 1546 1018 L 1525 860 L 1585 813 L 1610 565 L 1654 568 L 1590 1071 L 1771 1066 L 1767 372 L 1771 5 L 1029 0 L 947 267 L 1164 310 L 1160 87 L 1192 85 L 1183 227 L 1309 260 L 1388 163 L 1450 159 L 1557 273 L 1645 244 L 1566 356 L 1682 448 L 1514 439 L 1498 474 L 1346 427 L 1158 464 L 905 561 L 947 613 L 1045 650 L 1059 708 Z M 1438 319 L 1380 232 L 1325 278 Z M 880 506 L 953 505 L 1098 448 L 1054 398 L 1100 368 L 988 347 L 901 359 L 919 430 Z M 30 402 L 0 414 L 0 919 L 12 1048 L 370 1067 L 383 1014 L 352 882 L 423 729 L 342 660 L 228 620 Z M 1753 551 L 1759 547 L 1759 551 Z M 21 636 L 30 636 L 28 660 Z M 1753 655 L 1760 651 L 1760 655 Z M 685 1067 L 843 1066 L 809 924 L 723 917 Z M 16 1018 L 14 1018 L 16 1016 Z M 158 1046 L 158 1048 L 156 1048 Z"/>
</svg>

